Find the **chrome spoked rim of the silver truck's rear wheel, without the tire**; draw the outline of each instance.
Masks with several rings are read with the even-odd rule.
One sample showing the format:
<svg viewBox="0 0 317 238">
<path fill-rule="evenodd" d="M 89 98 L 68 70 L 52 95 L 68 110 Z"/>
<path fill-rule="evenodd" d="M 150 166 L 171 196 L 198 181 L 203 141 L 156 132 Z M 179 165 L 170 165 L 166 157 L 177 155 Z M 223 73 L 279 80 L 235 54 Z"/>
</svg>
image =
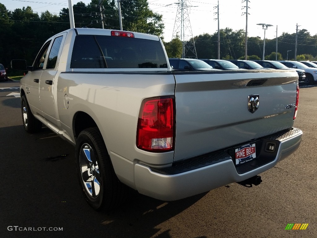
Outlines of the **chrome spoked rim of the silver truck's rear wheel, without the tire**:
<svg viewBox="0 0 317 238">
<path fill-rule="evenodd" d="M 94 154 L 93 148 L 84 143 L 80 149 L 80 169 L 81 169 L 81 179 L 87 193 L 92 198 L 97 198 L 100 191 L 100 173 L 99 167 Z"/>
</svg>

